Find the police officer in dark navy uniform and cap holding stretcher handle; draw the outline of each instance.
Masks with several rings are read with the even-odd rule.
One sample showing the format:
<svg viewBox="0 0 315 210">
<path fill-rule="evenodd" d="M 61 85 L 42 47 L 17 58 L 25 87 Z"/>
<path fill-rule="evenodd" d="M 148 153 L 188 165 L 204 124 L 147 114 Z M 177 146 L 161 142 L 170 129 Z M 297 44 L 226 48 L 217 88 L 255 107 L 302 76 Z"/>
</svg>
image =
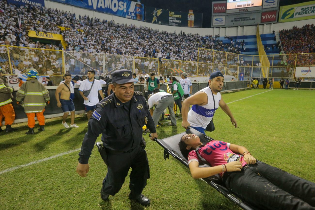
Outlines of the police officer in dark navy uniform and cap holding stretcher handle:
<svg viewBox="0 0 315 210">
<path fill-rule="evenodd" d="M 89 120 L 88 132 L 79 153 L 77 173 L 86 177 L 91 151 L 97 137 L 102 134 L 103 150 L 107 155 L 102 155 L 102 158 L 107 165 L 107 174 L 103 180 L 101 198 L 106 201 L 109 195 L 115 195 L 121 189 L 131 167 L 129 199 L 149 205 L 150 199 L 141 194 L 147 178 L 150 178 L 142 126 L 146 124 L 150 129 L 153 140 L 157 137 L 154 122 L 143 94 L 134 91 L 132 72 L 116 70 L 111 76 L 114 93 L 97 103 Z"/>
</svg>

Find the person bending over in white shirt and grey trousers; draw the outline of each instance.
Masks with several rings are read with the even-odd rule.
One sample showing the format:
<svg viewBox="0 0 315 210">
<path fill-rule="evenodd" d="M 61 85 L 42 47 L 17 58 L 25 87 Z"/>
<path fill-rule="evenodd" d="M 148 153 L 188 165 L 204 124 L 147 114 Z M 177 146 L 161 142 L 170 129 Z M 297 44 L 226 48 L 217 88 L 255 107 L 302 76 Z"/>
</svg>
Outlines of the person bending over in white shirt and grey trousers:
<svg viewBox="0 0 315 210">
<path fill-rule="evenodd" d="M 174 113 L 174 98 L 171 94 L 167 92 L 160 92 L 159 89 L 155 88 L 153 90 L 153 95 L 150 94 L 148 96 L 148 105 L 150 109 L 150 113 L 152 115 L 154 125 L 157 126 L 158 120 L 161 114 L 164 112 L 166 108 L 169 109 L 169 116 L 171 118 L 171 122 L 169 125 L 176 126 L 176 118 Z M 154 105 L 157 105 L 153 111 Z"/>
</svg>

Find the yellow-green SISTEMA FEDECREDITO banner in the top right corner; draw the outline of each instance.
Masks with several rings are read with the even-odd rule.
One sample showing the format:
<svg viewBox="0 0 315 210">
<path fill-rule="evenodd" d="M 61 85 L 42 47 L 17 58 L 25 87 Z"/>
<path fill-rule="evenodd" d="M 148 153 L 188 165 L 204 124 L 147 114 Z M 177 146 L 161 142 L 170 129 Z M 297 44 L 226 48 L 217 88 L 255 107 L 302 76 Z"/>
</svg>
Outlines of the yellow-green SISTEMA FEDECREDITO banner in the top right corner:
<svg viewBox="0 0 315 210">
<path fill-rule="evenodd" d="M 280 7 L 279 22 L 307 20 L 315 18 L 315 1 Z"/>
</svg>

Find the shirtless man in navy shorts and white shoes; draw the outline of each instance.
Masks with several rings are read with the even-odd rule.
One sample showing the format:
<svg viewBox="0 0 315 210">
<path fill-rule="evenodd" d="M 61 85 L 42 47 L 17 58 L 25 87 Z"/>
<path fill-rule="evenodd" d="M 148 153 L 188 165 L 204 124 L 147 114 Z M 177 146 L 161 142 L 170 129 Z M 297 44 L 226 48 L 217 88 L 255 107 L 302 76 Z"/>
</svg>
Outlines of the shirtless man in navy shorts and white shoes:
<svg viewBox="0 0 315 210">
<path fill-rule="evenodd" d="M 73 91 L 73 85 L 71 83 L 71 74 L 66 73 L 65 74 L 65 81 L 59 84 L 55 96 L 57 100 L 57 106 L 62 108 L 63 116 L 62 116 L 62 125 L 65 126 L 65 128 L 78 128 L 76 124 L 74 124 L 74 103 L 72 99 L 74 98 L 74 91 Z M 72 90 L 72 91 L 71 91 Z M 59 99 L 59 93 L 60 93 L 60 99 Z M 71 113 L 71 124 L 70 126 L 66 123 L 66 119 L 69 115 L 69 112 Z"/>
</svg>

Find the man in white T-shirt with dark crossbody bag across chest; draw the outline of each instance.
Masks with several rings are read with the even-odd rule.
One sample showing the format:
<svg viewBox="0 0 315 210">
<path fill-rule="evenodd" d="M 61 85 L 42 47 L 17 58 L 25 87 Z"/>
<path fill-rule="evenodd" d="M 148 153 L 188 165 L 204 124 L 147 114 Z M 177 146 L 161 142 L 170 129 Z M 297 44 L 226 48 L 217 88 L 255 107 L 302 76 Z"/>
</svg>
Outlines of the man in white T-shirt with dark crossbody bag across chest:
<svg viewBox="0 0 315 210">
<path fill-rule="evenodd" d="M 99 102 L 97 93 L 98 92 L 100 93 L 100 96 L 102 99 L 104 99 L 104 96 L 102 92 L 102 86 L 100 85 L 100 81 L 94 79 L 95 71 L 89 70 L 87 76 L 88 76 L 88 79 L 83 80 L 82 83 L 80 84 L 79 91 L 80 91 L 80 95 L 84 99 L 83 104 L 85 106 L 85 111 L 87 112 L 87 116 L 89 120 L 92 116 L 92 112 L 95 110 L 96 104 Z M 92 86 L 92 89 L 89 95 L 84 96 L 83 91 L 90 90 L 91 86 Z"/>
</svg>

